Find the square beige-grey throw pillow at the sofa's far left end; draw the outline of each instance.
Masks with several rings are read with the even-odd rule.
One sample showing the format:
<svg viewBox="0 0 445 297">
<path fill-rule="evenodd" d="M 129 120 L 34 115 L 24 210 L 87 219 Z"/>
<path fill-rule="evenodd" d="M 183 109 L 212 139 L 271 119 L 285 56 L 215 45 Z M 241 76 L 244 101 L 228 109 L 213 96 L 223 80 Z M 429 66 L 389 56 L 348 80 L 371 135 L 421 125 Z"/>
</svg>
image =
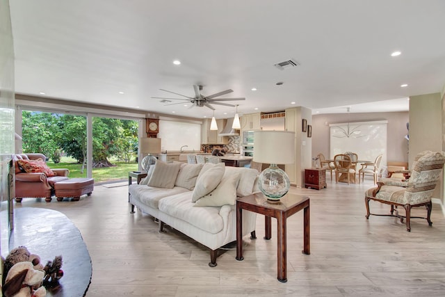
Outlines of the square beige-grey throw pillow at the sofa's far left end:
<svg viewBox="0 0 445 297">
<path fill-rule="evenodd" d="M 179 166 L 181 166 L 181 163 L 165 163 L 156 160 L 152 175 L 150 176 L 147 185 L 156 188 L 175 187 L 175 180 L 178 176 Z M 150 169 L 151 168 L 152 167 L 150 166 Z"/>
</svg>

